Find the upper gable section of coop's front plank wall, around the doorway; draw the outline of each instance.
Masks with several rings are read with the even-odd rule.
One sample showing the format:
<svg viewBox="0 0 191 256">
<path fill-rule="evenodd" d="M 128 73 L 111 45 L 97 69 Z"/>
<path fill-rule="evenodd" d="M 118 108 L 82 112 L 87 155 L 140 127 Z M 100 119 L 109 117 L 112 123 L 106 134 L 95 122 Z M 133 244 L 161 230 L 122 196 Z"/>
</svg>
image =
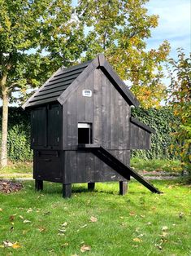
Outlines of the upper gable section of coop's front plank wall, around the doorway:
<svg viewBox="0 0 191 256">
<path fill-rule="evenodd" d="M 82 95 L 85 89 L 92 90 L 92 97 Z M 63 150 L 75 150 L 78 122 L 92 123 L 93 143 L 106 149 L 129 149 L 129 117 L 129 105 L 96 69 L 63 104 Z"/>
</svg>

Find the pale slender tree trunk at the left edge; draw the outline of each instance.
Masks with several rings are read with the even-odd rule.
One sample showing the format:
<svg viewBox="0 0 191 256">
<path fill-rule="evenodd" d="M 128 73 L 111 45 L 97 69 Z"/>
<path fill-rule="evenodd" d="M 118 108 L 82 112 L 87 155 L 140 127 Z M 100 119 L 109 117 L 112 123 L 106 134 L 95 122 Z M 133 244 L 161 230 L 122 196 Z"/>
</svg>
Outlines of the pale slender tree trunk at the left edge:
<svg viewBox="0 0 191 256">
<path fill-rule="evenodd" d="M 7 76 L 2 77 L 2 150 L 1 167 L 7 166 L 7 126 L 8 126 L 8 88 L 6 87 Z"/>
</svg>

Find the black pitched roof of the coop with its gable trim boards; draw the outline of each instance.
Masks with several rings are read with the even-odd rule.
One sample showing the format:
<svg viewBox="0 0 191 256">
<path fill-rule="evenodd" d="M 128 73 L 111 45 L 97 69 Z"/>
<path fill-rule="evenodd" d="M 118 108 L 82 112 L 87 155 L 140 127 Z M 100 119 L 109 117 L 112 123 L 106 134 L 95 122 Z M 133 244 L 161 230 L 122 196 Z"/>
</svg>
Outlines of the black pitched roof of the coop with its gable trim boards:
<svg viewBox="0 0 191 256">
<path fill-rule="evenodd" d="M 138 106 L 135 95 L 132 94 L 120 77 L 115 73 L 104 55 L 98 55 L 94 60 L 72 66 L 71 68 L 59 68 L 46 83 L 23 105 L 23 108 L 36 107 L 41 104 L 49 104 L 58 101 L 63 105 L 80 82 L 89 76 L 95 68 L 101 68 L 102 72 L 111 80 L 115 89 L 127 101 L 128 104 Z M 80 76 L 80 77 L 79 77 Z M 70 86 L 70 88 L 68 88 Z M 68 89 L 67 89 L 68 88 Z M 65 91 L 66 90 L 66 91 Z"/>
</svg>

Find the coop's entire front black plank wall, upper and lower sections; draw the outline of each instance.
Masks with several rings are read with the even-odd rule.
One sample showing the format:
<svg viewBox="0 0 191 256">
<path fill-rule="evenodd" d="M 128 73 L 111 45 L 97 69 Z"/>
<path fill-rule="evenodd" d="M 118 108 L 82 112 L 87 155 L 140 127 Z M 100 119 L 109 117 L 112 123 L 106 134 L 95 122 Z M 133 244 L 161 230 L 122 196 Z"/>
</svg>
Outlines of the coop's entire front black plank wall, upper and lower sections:
<svg viewBox="0 0 191 256">
<path fill-rule="evenodd" d="M 91 90 L 92 97 L 82 95 Z M 96 69 L 63 104 L 63 150 L 67 150 L 67 183 L 124 180 L 90 152 L 77 152 L 78 122 L 92 123 L 93 143 L 129 163 L 130 108 L 110 80 Z M 70 173 L 68 171 L 70 170 Z"/>
</svg>

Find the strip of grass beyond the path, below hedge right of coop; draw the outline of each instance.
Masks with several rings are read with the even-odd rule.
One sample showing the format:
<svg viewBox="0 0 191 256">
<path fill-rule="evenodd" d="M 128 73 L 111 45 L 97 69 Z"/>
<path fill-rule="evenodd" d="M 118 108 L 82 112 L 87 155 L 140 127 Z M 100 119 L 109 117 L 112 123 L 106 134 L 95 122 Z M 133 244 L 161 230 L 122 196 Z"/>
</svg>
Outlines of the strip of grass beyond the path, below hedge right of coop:
<svg viewBox="0 0 191 256">
<path fill-rule="evenodd" d="M 179 160 L 168 159 L 141 159 L 133 157 L 131 166 L 137 171 L 164 171 L 167 173 L 180 173 L 181 163 Z"/>
</svg>

